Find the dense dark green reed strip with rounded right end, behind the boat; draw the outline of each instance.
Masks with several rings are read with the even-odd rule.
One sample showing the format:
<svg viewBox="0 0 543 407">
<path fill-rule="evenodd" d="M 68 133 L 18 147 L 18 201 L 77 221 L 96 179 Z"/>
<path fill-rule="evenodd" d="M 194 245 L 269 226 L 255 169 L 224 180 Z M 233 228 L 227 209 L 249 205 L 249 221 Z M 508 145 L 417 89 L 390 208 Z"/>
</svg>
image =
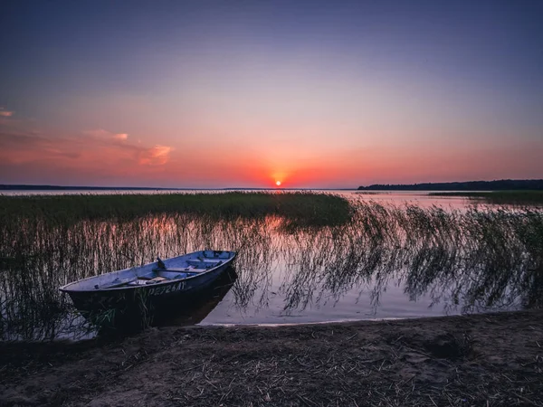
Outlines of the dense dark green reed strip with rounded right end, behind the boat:
<svg viewBox="0 0 543 407">
<path fill-rule="evenodd" d="M 344 197 L 309 192 L 0 196 L 0 223 L 39 218 L 70 224 L 185 213 L 222 220 L 278 215 L 300 224 L 327 225 L 348 221 L 351 207 Z"/>
</svg>

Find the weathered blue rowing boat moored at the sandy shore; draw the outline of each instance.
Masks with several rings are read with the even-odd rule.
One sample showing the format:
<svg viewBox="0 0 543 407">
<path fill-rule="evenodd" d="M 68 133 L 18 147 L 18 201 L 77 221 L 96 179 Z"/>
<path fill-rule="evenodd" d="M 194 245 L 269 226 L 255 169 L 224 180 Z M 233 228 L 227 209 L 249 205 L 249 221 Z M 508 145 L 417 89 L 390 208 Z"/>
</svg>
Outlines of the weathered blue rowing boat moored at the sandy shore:
<svg viewBox="0 0 543 407">
<path fill-rule="evenodd" d="M 235 256 L 235 251 L 195 251 L 80 279 L 60 290 L 70 296 L 83 316 L 94 316 L 94 321 L 111 311 L 115 311 L 117 322 L 153 317 L 210 287 L 232 266 Z"/>
</svg>

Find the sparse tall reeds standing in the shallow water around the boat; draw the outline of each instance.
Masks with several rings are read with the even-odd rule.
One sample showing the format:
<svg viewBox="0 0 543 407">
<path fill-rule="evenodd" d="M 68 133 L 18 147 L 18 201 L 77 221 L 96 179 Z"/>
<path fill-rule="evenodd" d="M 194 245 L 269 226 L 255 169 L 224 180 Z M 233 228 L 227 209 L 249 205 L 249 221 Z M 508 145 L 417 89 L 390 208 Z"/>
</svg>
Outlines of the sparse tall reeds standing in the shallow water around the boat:
<svg viewBox="0 0 543 407">
<path fill-rule="evenodd" d="M 275 194 L 254 195 L 276 199 Z M 294 201 L 322 200 L 321 194 L 294 195 Z M 146 199 L 160 201 L 162 196 Z M 253 199 L 253 194 L 236 196 Z M 72 335 L 82 324 L 81 317 L 58 291 L 71 280 L 145 264 L 157 255 L 168 258 L 217 248 L 239 253 L 232 293 L 240 309 L 266 308 L 273 284 L 279 285 L 285 313 L 339 301 L 352 289 L 370 291 L 376 308 L 391 283 L 401 284 L 409 298 L 430 295 L 435 304 L 460 307 L 462 312 L 541 307 L 543 211 L 538 208 L 478 205 L 451 210 L 354 199 L 344 210 L 343 199 L 331 198 L 325 221 L 310 222 L 311 216 L 322 214 L 324 204 L 306 203 L 303 211 L 320 208 L 310 218 L 294 216 L 300 208 L 289 209 L 291 215 L 277 208 L 248 214 L 246 208 L 252 204 L 247 204 L 235 216 L 229 209 L 231 215 L 224 219 L 217 218 L 218 212 L 179 210 L 144 211 L 130 218 L 105 214 L 78 218 L 71 213 L 63 221 L 52 210 L 60 207 L 61 199 L 53 200 L 57 204 L 44 199 L 43 207 L 36 209 L 39 215 L 21 212 L 25 215 L 5 217 L 8 222 L 1 223 L 0 337 Z M 28 199 L 33 205 L 42 202 Z M 348 213 L 347 221 L 329 222 L 338 220 L 337 207 Z M 10 211 L 18 209 L 11 206 L 4 214 Z M 278 264 L 285 268 L 279 284 L 272 281 Z"/>
</svg>

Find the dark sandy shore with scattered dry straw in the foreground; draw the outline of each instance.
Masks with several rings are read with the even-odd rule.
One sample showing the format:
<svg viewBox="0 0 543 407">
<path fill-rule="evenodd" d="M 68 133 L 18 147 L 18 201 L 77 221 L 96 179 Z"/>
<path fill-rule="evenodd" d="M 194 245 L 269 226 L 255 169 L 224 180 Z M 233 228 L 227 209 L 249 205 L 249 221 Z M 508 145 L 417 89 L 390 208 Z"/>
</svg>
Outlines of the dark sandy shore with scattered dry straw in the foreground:
<svg viewBox="0 0 543 407">
<path fill-rule="evenodd" d="M 543 312 L 0 345 L 0 405 L 543 406 Z"/>
</svg>

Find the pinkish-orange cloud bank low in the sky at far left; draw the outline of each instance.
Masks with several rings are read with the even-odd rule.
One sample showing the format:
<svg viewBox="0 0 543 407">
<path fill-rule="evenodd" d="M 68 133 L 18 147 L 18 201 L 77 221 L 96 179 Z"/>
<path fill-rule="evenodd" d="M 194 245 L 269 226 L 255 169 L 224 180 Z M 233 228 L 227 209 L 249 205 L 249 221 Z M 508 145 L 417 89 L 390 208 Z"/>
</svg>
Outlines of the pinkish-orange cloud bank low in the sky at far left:
<svg viewBox="0 0 543 407">
<path fill-rule="evenodd" d="M 110 176 L 144 179 L 162 172 L 173 150 L 164 145 L 145 146 L 127 133 L 103 128 L 71 135 L 46 134 L 26 121 L 0 116 L 0 163 L 12 168 L 10 179 L 30 175 L 41 179 L 47 174 L 59 179 L 75 174 L 101 180 Z"/>
</svg>

